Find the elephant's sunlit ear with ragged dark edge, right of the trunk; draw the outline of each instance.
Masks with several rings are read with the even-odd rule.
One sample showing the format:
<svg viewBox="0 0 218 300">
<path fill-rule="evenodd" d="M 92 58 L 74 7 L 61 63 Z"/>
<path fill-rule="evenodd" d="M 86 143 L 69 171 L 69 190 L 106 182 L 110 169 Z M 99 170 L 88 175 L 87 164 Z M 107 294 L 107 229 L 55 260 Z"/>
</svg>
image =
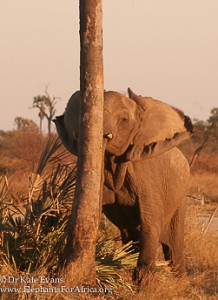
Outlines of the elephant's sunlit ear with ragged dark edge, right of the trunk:
<svg viewBox="0 0 218 300">
<path fill-rule="evenodd" d="M 129 98 L 139 107 L 140 121 L 124 160 L 140 160 L 160 155 L 190 138 L 189 117 L 180 110 L 152 98 L 143 98 L 128 89 Z"/>
</svg>

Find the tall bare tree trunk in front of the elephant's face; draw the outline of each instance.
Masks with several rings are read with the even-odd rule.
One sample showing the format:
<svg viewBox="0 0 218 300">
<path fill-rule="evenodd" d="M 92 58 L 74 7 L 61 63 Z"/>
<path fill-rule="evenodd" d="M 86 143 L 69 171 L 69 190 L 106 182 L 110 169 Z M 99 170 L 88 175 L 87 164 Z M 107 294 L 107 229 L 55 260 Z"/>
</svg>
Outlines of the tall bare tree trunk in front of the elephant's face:
<svg viewBox="0 0 218 300">
<path fill-rule="evenodd" d="M 102 1 L 80 0 L 82 96 L 77 185 L 66 256 L 80 277 L 95 281 L 95 249 L 101 210 L 103 162 Z M 81 280 L 81 278 L 80 278 Z"/>
</svg>

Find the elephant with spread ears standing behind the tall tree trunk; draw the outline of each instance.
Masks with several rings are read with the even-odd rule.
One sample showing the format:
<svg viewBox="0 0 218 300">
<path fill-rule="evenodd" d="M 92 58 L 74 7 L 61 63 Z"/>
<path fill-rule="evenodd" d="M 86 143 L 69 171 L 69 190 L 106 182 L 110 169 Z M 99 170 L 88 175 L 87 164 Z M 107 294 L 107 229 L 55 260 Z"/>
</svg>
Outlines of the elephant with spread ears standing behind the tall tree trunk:
<svg viewBox="0 0 218 300">
<path fill-rule="evenodd" d="M 180 110 L 150 97 L 104 92 L 102 211 L 123 243 L 138 242 L 135 280 L 155 269 L 159 244 L 165 260 L 183 274 L 185 198 L 189 164 L 177 146 L 193 133 Z M 55 124 L 65 147 L 78 156 L 81 95 L 75 92 Z M 137 246 L 136 246 L 137 247 Z"/>
</svg>

